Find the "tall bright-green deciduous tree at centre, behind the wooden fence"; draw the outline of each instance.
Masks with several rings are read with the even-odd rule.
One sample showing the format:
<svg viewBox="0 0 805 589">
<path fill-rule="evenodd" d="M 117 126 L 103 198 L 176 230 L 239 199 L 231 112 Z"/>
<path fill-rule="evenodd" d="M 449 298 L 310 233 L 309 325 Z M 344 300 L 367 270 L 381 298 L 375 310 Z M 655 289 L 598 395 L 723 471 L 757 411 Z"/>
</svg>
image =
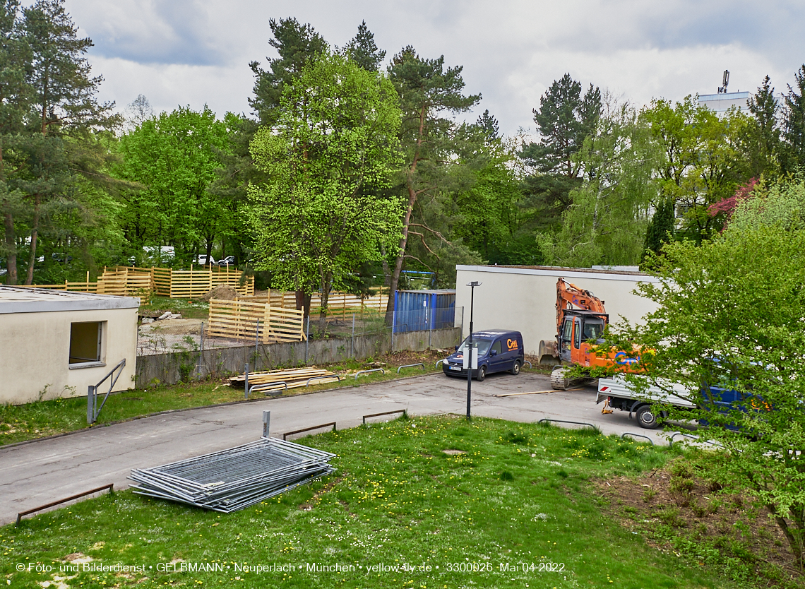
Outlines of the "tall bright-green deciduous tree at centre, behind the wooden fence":
<svg viewBox="0 0 805 589">
<path fill-rule="evenodd" d="M 251 144 L 266 183 L 250 187 L 258 268 L 281 288 L 333 286 L 399 240 L 398 198 L 378 198 L 399 166 L 394 86 L 338 54 L 321 54 L 287 84 L 274 130 Z"/>
</svg>

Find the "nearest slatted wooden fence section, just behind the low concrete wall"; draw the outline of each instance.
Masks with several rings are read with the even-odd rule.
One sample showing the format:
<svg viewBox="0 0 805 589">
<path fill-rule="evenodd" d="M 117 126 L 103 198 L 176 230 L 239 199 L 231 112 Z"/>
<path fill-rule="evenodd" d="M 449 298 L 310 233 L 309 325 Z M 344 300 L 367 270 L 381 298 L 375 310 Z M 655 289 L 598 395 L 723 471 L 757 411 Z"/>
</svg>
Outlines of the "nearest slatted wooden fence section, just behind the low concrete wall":
<svg viewBox="0 0 805 589">
<path fill-rule="evenodd" d="M 305 339 L 302 311 L 267 303 L 210 299 L 207 325 L 209 336 L 260 340 L 263 344 Z"/>
</svg>

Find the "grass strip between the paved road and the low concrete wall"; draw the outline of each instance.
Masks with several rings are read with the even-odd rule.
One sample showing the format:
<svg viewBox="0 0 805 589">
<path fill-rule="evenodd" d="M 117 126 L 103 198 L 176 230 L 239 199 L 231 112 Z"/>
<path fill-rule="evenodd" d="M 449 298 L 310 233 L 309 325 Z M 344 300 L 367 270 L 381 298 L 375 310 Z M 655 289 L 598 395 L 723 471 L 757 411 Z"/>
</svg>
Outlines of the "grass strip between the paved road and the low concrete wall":
<svg viewBox="0 0 805 589">
<path fill-rule="evenodd" d="M 398 357 L 397 357 L 398 356 Z M 421 357 L 420 357 L 421 356 Z M 440 372 L 434 368 L 431 352 L 398 352 L 394 356 L 383 356 L 388 362 L 386 374 L 363 374 L 357 378 L 345 377 L 341 382 L 314 385 L 308 388 L 290 389 L 286 394 L 309 393 L 316 390 L 353 387 L 371 382 L 388 381 L 394 378 L 410 377 L 423 373 Z M 394 360 L 398 365 L 423 362 L 424 370 L 404 369 L 397 374 Z M 328 365 L 332 371 L 355 371 L 365 369 L 361 362 L 349 360 L 339 365 Z M 527 369 L 526 369 L 527 370 Z M 123 393 L 109 395 L 109 399 L 101 410 L 101 415 L 93 427 L 105 423 L 134 419 L 159 411 L 190 409 L 217 403 L 243 401 L 243 389 L 229 387 L 226 381 L 203 381 L 171 386 L 147 386 L 132 389 Z M 255 393 L 252 398 L 265 398 L 262 393 Z M 57 398 L 52 401 L 31 402 L 25 405 L 0 405 L 0 446 L 22 442 L 28 439 L 42 438 L 47 435 L 62 434 L 68 431 L 81 430 L 87 426 L 87 397 Z"/>
</svg>

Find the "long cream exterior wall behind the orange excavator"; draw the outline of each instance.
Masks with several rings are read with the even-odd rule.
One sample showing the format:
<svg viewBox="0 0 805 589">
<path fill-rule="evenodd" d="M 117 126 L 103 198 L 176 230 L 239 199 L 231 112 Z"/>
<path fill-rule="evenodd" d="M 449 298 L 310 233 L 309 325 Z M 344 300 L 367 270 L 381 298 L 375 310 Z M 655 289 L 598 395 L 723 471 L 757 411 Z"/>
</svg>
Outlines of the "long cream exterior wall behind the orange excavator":
<svg viewBox="0 0 805 589">
<path fill-rule="evenodd" d="M 656 305 L 632 292 L 638 282 L 657 282 L 647 274 L 628 274 L 579 268 L 507 268 L 456 266 L 456 308 L 464 306 L 464 334 L 469 335 L 470 288 L 475 288 L 474 331 L 506 329 L 522 332 L 526 354 L 539 352 L 540 340 L 556 337 L 556 281 L 564 278 L 590 290 L 605 303 L 611 323 L 622 315 L 631 323 L 654 311 Z M 460 325 L 456 314 L 456 327 Z"/>
</svg>

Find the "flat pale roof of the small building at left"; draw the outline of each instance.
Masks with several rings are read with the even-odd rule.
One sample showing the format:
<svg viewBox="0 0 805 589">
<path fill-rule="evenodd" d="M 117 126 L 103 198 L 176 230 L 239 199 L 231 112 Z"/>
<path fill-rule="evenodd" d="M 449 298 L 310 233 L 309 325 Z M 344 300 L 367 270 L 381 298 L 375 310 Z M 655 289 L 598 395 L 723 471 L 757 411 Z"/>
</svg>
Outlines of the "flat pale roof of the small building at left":
<svg viewBox="0 0 805 589">
<path fill-rule="evenodd" d="M 49 311 L 97 311 L 136 309 L 140 299 L 98 295 L 93 292 L 50 290 L 30 286 L 0 286 L 0 315 L 7 313 L 47 313 Z"/>
</svg>

